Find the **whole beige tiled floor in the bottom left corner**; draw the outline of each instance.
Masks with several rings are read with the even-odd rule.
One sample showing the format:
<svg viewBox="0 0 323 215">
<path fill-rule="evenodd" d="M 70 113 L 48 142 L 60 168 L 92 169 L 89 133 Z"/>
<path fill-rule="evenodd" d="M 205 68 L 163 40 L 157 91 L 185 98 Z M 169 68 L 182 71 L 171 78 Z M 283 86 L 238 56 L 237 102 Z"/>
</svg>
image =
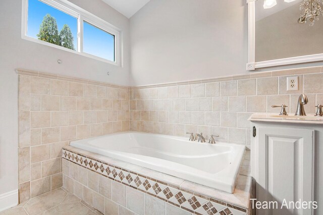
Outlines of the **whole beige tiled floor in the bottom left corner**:
<svg viewBox="0 0 323 215">
<path fill-rule="evenodd" d="M 102 215 L 75 195 L 62 188 L 50 191 L 16 207 L 0 212 L 0 215 Z"/>
</svg>

